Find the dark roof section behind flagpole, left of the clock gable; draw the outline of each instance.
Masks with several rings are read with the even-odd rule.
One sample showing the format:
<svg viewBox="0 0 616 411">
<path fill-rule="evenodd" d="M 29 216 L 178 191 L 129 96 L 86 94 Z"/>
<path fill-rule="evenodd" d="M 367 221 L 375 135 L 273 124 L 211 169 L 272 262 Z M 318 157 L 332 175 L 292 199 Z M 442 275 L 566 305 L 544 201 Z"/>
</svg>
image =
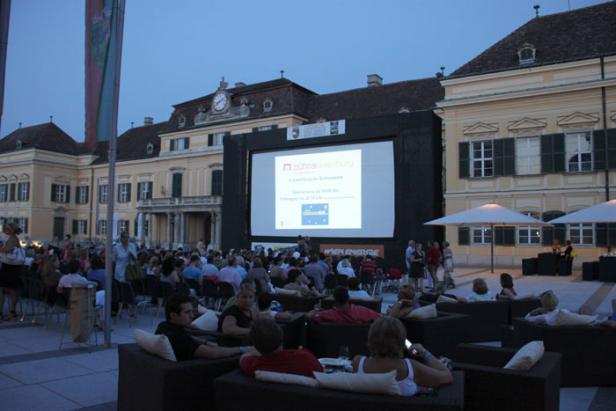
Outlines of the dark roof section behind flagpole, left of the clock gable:
<svg viewBox="0 0 616 411">
<path fill-rule="evenodd" d="M 160 152 L 160 138 L 158 134 L 167 126 L 167 122 L 130 128 L 118 137 L 116 161 L 130 161 L 144 158 L 158 157 Z M 147 152 L 147 146 L 151 143 L 154 150 Z M 108 142 L 98 142 L 92 154 L 98 156 L 93 164 L 102 164 L 108 161 Z"/>
</svg>

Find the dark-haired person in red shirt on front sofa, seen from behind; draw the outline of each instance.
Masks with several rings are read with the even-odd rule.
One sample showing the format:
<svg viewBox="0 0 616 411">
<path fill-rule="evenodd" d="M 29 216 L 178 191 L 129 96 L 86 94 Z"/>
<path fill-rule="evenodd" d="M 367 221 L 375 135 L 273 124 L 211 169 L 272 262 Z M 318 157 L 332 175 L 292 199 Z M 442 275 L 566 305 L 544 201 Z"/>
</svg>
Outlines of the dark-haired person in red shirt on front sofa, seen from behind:
<svg viewBox="0 0 616 411">
<path fill-rule="evenodd" d="M 323 371 L 310 351 L 283 349 L 282 337 L 282 329 L 274 320 L 255 320 L 250 328 L 250 340 L 258 353 L 242 355 L 240 369 L 251 377 L 255 371 L 274 371 L 314 378 L 314 371 Z"/>
</svg>

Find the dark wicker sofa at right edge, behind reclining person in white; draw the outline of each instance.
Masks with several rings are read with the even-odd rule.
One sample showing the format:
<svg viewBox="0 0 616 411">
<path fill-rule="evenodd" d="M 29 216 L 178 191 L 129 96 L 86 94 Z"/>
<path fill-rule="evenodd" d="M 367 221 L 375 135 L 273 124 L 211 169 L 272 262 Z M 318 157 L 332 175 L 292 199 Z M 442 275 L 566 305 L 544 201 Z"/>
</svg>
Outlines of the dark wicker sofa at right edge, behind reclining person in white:
<svg viewBox="0 0 616 411">
<path fill-rule="evenodd" d="M 513 319 L 513 344 L 542 340 L 546 351 L 562 354 L 564 387 L 616 386 L 616 330 L 597 326 L 547 326 Z"/>
</svg>

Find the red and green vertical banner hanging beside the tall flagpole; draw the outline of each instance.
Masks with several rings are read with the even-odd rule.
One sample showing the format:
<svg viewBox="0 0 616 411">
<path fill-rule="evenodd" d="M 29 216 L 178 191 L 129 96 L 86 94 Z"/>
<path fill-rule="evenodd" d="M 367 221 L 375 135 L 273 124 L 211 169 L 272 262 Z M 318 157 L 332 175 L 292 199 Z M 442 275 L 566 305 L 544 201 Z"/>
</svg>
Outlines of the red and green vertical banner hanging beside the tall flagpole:
<svg viewBox="0 0 616 411">
<path fill-rule="evenodd" d="M 86 0 L 85 143 L 108 141 L 117 118 L 124 0 Z M 115 120 L 117 126 L 117 119 Z M 115 133 L 114 133 L 115 134 Z"/>
</svg>

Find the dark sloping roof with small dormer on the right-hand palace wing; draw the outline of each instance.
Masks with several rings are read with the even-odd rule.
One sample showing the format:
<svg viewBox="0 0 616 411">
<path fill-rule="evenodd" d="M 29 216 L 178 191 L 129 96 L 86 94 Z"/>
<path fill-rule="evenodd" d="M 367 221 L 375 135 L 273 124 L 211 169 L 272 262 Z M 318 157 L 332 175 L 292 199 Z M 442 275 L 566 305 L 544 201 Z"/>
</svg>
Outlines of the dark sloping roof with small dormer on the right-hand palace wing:
<svg viewBox="0 0 616 411">
<path fill-rule="evenodd" d="M 536 50 L 535 62 L 520 65 L 525 43 Z M 448 78 L 575 61 L 616 54 L 616 2 L 533 18 Z"/>
</svg>

